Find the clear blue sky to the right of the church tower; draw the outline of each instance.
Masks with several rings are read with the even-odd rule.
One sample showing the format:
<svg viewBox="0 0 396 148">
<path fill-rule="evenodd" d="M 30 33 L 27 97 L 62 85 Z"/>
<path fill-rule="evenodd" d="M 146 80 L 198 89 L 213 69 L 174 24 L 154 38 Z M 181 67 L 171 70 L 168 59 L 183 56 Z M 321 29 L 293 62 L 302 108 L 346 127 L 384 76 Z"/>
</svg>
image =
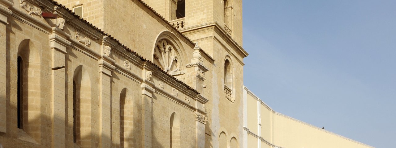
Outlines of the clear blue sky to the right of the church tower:
<svg viewBox="0 0 396 148">
<path fill-rule="evenodd" d="M 396 145 L 396 0 L 244 0 L 244 84 L 272 109 Z"/>
</svg>

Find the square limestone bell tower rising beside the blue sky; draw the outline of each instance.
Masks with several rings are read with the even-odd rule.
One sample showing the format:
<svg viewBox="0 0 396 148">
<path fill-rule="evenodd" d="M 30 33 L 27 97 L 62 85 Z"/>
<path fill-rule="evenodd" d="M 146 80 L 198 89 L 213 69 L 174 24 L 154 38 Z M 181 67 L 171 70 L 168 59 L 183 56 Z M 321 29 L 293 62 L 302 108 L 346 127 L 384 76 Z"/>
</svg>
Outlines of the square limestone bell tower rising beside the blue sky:
<svg viewBox="0 0 396 148">
<path fill-rule="evenodd" d="M 242 0 L 144 0 L 215 61 L 204 61 L 206 148 L 238 148 L 243 143 Z"/>
</svg>

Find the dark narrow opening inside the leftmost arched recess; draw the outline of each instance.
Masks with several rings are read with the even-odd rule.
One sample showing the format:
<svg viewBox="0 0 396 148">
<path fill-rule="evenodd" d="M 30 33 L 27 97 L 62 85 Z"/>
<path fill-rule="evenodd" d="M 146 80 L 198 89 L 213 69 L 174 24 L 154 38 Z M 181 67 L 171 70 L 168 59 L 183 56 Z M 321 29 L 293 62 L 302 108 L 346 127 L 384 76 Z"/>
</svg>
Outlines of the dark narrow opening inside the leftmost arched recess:
<svg viewBox="0 0 396 148">
<path fill-rule="evenodd" d="M 17 116 L 18 116 L 18 128 L 23 129 L 23 61 L 20 56 L 18 56 L 18 74 L 17 74 Z"/>
</svg>

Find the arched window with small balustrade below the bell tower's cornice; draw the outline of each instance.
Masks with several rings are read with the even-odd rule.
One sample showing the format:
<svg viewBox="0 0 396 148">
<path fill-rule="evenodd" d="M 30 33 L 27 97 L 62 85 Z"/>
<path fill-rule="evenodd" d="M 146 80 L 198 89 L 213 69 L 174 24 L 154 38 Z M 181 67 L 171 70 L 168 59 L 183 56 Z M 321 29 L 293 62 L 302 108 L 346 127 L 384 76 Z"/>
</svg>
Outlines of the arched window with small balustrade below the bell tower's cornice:
<svg viewBox="0 0 396 148">
<path fill-rule="evenodd" d="M 232 99 L 232 66 L 228 59 L 224 62 L 224 93 L 225 97 L 230 101 Z"/>
</svg>

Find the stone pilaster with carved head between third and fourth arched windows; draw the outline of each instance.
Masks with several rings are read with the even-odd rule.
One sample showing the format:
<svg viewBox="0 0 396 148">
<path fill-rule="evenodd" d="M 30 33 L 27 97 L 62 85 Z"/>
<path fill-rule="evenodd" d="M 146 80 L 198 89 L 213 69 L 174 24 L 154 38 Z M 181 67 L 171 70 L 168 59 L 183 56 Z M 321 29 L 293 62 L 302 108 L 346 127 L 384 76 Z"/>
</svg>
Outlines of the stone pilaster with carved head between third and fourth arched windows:
<svg viewBox="0 0 396 148">
<path fill-rule="evenodd" d="M 152 140 L 152 93 L 154 83 L 151 82 L 152 72 L 143 69 L 143 81 L 140 85 L 142 88 L 142 148 L 151 148 Z"/>
</svg>

